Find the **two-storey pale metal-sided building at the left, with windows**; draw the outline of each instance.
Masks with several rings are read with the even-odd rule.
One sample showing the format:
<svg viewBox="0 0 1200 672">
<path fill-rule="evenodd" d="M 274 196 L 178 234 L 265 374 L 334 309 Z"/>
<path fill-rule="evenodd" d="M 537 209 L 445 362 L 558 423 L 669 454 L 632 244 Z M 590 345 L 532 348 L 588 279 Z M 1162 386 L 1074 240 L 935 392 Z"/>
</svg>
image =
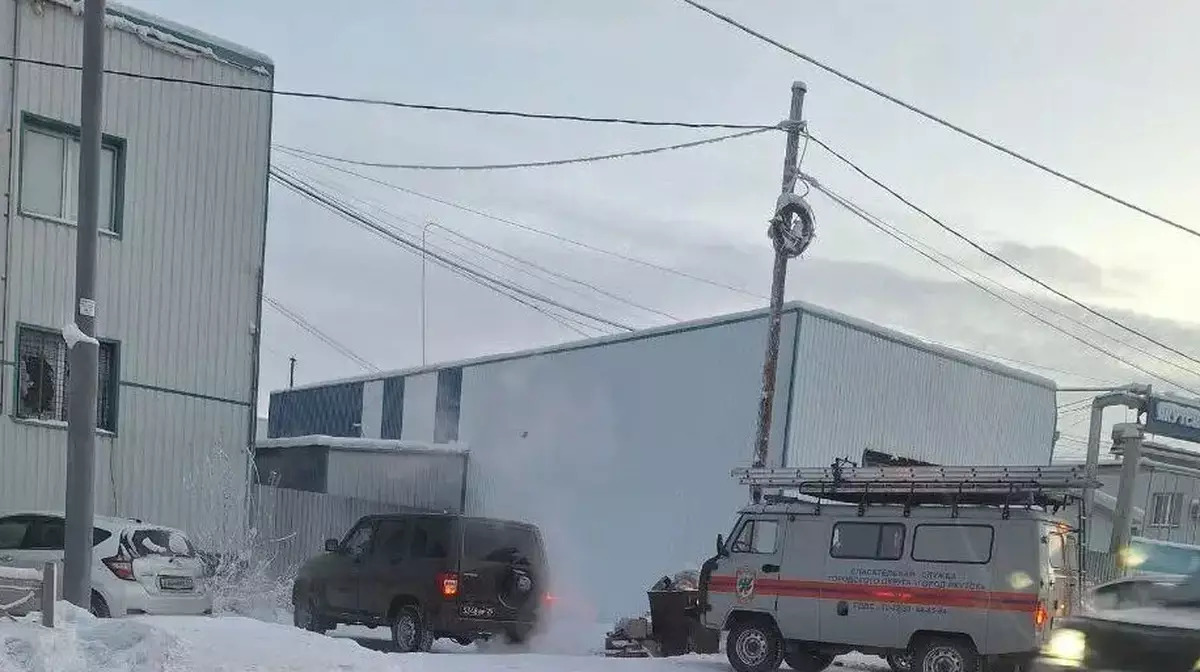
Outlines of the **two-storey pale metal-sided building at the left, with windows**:
<svg viewBox="0 0 1200 672">
<path fill-rule="evenodd" d="M 0 0 L 0 509 L 64 505 L 79 72 L 29 61 L 80 62 L 79 6 Z M 110 72 L 272 85 L 263 55 L 108 14 Z M 246 487 L 271 95 L 109 73 L 103 102 L 96 512 L 197 530 Z"/>
</svg>

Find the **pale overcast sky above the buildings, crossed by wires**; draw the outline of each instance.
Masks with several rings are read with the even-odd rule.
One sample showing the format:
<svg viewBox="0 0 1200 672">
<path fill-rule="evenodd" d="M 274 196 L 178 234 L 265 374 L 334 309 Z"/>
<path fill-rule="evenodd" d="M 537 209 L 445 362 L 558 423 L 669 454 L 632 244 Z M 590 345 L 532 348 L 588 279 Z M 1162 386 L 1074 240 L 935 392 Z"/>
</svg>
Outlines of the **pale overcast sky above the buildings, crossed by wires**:
<svg viewBox="0 0 1200 672">
<path fill-rule="evenodd" d="M 793 79 L 814 134 L 948 223 L 1080 299 L 1200 352 L 1200 239 L 1174 232 L 958 137 L 758 43 L 677 0 L 128 0 L 271 55 L 278 89 L 413 102 L 773 124 Z M 1152 210 L 1200 226 L 1200 4 L 1112 0 L 805 2 L 712 0 L 793 47 Z M 275 142 L 380 162 L 538 161 L 719 132 L 481 119 L 281 98 Z M 521 224 L 764 295 L 766 218 L 782 138 L 598 164 L 493 173 L 361 169 Z M 370 199 L 420 236 L 439 224 L 680 319 L 763 299 L 596 254 L 287 156 Z M 1044 299 L 810 146 L 804 169 L 908 235 Z M 1146 379 L 966 286 L 818 194 L 818 239 L 788 298 L 922 337 L 1036 364 L 1067 384 Z M 266 289 L 383 368 L 421 362 L 418 256 L 274 187 Z M 560 280 L 536 280 L 433 228 L 430 242 L 564 302 L 637 326 L 667 318 Z M 487 252 L 496 256 L 494 252 Z M 505 259 L 508 264 L 511 260 Z M 559 286 L 566 284 L 564 289 Z M 431 362 L 577 337 L 512 300 L 431 266 Z M 578 293 L 582 293 L 578 294 Z M 1049 300 L 1045 299 L 1048 302 Z M 1097 329 L 1115 330 L 1092 320 Z M 1200 385 L 1128 347 L 1091 341 Z M 266 312 L 263 401 L 287 384 L 361 372 Z M 1128 341 L 1127 335 L 1121 338 Z M 1152 346 L 1142 343 L 1142 348 Z M 1182 360 L 1177 360 L 1182 361 Z M 1027 366 L 1028 367 L 1028 366 Z M 1049 367 L 1049 368 L 1045 368 Z M 1195 366 L 1193 366 L 1195 368 Z M 1159 383 L 1162 384 L 1162 383 Z M 265 407 L 264 407 L 265 409 Z M 1081 433 L 1080 430 L 1068 430 Z"/>
</svg>

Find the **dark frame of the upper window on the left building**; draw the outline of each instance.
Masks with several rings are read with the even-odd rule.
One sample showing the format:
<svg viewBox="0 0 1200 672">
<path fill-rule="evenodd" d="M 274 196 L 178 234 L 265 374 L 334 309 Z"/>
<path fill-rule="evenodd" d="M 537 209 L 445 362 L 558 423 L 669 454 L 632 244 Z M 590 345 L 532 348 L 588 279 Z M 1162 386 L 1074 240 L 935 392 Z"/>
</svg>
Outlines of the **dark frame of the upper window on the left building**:
<svg viewBox="0 0 1200 672">
<path fill-rule="evenodd" d="M 80 128 L 73 124 L 61 121 L 58 119 L 52 119 L 49 116 L 43 116 L 41 114 L 35 114 L 31 112 L 20 113 L 20 138 L 19 152 L 17 155 L 16 169 L 17 169 L 17 211 L 23 217 L 31 217 L 35 220 L 42 220 L 46 222 L 54 222 L 56 224 L 62 224 L 67 227 L 78 227 L 78 204 L 76 218 L 71 218 L 67 212 L 64 211 L 61 216 L 44 215 L 42 212 L 36 212 L 25 208 L 25 133 L 28 132 L 41 133 L 43 136 L 52 136 L 62 138 L 66 140 L 74 140 L 77 144 L 80 142 L 83 132 Z M 108 222 L 109 226 L 98 226 L 101 235 L 108 235 L 112 238 L 120 239 L 125 233 L 125 179 L 126 179 L 126 161 L 127 161 L 127 149 L 128 143 L 125 138 L 120 136 L 112 136 L 108 133 L 101 133 L 100 146 L 103 151 L 108 149 L 113 152 L 113 193 L 110 199 L 112 208 L 112 220 Z M 66 149 L 64 149 L 62 157 L 62 188 L 67 190 L 70 187 L 67 178 L 67 155 Z M 76 188 L 78 188 L 78 175 L 76 175 Z M 67 194 L 64 191 L 60 196 L 61 205 L 66 208 Z M 103 218 L 101 218 L 103 221 Z"/>
</svg>

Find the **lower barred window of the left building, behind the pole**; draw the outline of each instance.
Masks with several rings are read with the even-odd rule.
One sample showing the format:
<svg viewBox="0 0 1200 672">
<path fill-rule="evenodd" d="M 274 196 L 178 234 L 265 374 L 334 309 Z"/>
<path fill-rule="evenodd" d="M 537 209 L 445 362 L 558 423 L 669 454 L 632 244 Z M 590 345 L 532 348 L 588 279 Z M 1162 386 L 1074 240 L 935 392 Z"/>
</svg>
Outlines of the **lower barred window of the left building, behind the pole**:
<svg viewBox="0 0 1200 672">
<path fill-rule="evenodd" d="M 17 337 L 17 418 L 66 422 L 71 371 L 62 334 L 20 326 Z M 116 343 L 100 343 L 96 428 L 116 431 Z"/>
</svg>

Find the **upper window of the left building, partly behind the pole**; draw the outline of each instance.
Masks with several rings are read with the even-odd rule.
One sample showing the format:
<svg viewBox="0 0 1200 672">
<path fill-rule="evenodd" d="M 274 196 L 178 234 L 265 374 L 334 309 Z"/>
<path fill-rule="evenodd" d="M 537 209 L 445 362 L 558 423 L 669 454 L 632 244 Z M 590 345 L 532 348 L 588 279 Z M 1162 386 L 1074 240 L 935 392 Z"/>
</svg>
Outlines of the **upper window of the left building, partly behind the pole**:
<svg viewBox="0 0 1200 672">
<path fill-rule="evenodd" d="M 125 143 L 106 136 L 100 157 L 100 222 L 120 230 Z M 20 211 L 74 224 L 79 218 L 79 128 L 26 114 L 20 137 Z"/>
</svg>

